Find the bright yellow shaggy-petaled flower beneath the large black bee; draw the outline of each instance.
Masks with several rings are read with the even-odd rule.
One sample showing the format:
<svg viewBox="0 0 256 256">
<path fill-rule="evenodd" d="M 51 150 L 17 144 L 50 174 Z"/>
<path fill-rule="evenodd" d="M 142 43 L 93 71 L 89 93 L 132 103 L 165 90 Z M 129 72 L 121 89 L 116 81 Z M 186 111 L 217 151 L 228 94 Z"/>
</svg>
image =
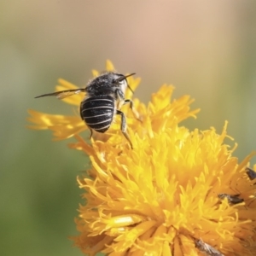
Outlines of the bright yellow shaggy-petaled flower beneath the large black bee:
<svg viewBox="0 0 256 256">
<path fill-rule="evenodd" d="M 137 79 L 128 82 L 137 87 Z M 69 147 L 90 156 L 90 170 L 78 177 L 86 203 L 76 219 L 79 236 L 73 237 L 83 253 L 255 255 L 256 188 L 247 177 L 255 153 L 238 163 L 232 156 L 236 144 L 224 143 L 231 139 L 227 123 L 220 134 L 180 126 L 199 110 L 189 110 L 189 96 L 171 101 L 172 91 L 163 85 L 148 106 L 135 99 L 142 121 L 122 108 L 134 149 L 118 120 L 90 145 L 79 134 L 85 128 L 78 117 L 31 112 L 37 129 L 53 130 L 58 139 L 74 136 L 77 142 Z"/>
</svg>

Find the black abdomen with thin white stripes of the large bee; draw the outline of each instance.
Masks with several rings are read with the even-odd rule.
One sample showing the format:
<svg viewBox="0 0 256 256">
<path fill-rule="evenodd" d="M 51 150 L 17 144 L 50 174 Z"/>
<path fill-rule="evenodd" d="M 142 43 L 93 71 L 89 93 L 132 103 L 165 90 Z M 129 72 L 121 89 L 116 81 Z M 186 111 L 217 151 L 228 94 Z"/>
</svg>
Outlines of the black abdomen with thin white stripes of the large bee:
<svg viewBox="0 0 256 256">
<path fill-rule="evenodd" d="M 81 102 L 80 114 L 86 125 L 95 131 L 105 132 L 113 121 L 115 112 L 112 96 L 93 96 Z"/>
</svg>

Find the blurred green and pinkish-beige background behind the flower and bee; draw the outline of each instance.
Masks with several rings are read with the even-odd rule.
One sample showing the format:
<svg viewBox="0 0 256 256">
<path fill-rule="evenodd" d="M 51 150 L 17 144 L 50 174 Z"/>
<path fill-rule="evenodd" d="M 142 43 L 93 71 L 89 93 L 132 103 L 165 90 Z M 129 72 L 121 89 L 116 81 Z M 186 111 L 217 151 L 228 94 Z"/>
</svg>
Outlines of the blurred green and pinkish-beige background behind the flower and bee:
<svg viewBox="0 0 256 256">
<path fill-rule="evenodd" d="M 109 58 L 136 72 L 136 96 L 148 102 L 161 84 L 189 94 L 198 119 L 239 144 L 242 160 L 256 149 L 255 1 L 6 1 L 0 3 L 1 255 L 82 255 L 76 234 L 82 153 L 53 143 L 49 131 L 26 129 L 28 108 L 73 113 L 53 98 L 58 78 L 84 86 Z M 231 143 L 231 142 L 229 142 Z M 233 144 L 233 143 L 231 143 Z M 252 164 L 254 164 L 253 162 Z"/>
</svg>

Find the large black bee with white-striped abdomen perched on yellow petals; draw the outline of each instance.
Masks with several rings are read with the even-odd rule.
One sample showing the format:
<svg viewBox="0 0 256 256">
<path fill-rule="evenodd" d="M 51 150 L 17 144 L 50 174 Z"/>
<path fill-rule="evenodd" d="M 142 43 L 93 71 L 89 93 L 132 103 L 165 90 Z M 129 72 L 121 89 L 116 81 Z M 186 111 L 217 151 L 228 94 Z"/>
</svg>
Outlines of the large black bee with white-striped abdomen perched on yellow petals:
<svg viewBox="0 0 256 256">
<path fill-rule="evenodd" d="M 56 96 L 58 99 L 63 99 L 67 96 L 85 92 L 84 100 L 80 104 L 80 116 L 90 129 L 90 138 L 92 137 L 93 131 L 101 133 L 108 131 L 108 128 L 113 123 L 114 115 L 118 114 L 121 116 L 120 130 L 130 143 L 131 148 L 133 148 L 131 139 L 126 132 L 125 113 L 119 109 L 125 104 L 130 104 L 132 112 L 139 119 L 137 111 L 133 108 L 133 102 L 130 99 L 125 99 L 125 90 L 127 87 L 131 90 L 131 87 L 127 83 L 127 78 L 134 74 L 131 73 L 125 76 L 113 72 L 103 73 L 95 79 L 90 80 L 85 88 L 56 91 L 36 96 L 36 98 Z"/>
</svg>

